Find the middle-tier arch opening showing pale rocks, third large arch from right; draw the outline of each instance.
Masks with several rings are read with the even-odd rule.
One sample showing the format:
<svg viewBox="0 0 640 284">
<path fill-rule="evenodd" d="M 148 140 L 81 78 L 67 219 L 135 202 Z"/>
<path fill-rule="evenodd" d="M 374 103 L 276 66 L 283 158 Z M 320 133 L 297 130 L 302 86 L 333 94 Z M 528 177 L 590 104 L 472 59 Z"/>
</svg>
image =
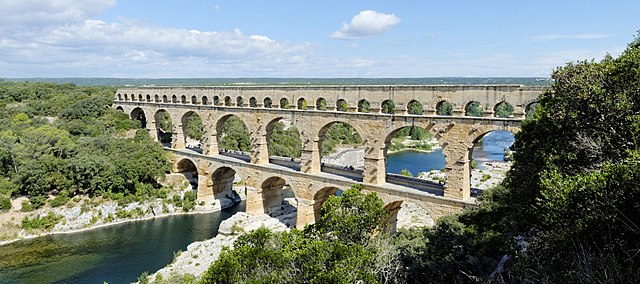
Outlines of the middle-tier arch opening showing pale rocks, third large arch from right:
<svg viewBox="0 0 640 284">
<path fill-rule="evenodd" d="M 318 133 L 320 170 L 356 181 L 364 172 L 364 145 L 356 129 L 346 122 L 326 124 Z"/>
</svg>

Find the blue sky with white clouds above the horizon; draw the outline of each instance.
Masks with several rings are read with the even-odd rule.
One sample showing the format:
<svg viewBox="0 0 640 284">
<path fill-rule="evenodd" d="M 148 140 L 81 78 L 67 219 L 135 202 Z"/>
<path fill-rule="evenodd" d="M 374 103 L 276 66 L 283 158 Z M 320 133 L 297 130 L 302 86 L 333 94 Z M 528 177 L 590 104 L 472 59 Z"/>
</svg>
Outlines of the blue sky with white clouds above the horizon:
<svg viewBox="0 0 640 284">
<path fill-rule="evenodd" d="M 0 78 L 548 77 L 640 1 L 2 0 Z"/>
</svg>

